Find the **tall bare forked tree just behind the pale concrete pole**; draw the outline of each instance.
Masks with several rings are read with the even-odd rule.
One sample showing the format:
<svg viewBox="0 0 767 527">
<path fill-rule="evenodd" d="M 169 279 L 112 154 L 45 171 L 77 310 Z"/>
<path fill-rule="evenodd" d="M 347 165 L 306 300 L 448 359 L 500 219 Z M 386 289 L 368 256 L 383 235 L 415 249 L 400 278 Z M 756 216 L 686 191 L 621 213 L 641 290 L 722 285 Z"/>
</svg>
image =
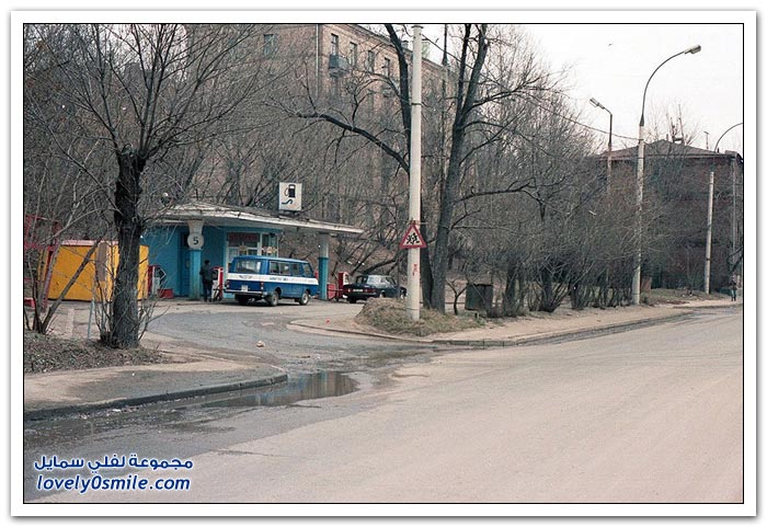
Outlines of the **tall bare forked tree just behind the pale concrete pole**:
<svg viewBox="0 0 767 527">
<path fill-rule="evenodd" d="M 312 98 L 310 90 L 307 90 L 305 104 L 286 104 L 284 107 L 290 115 L 327 122 L 345 134 L 365 138 L 393 160 L 398 169 L 407 173 L 410 170 L 411 51 L 403 45 L 401 32 L 393 24 L 385 24 L 385 30 L 389 45 L 397 56 L 397 76 L 390 77 L 388 72 L 381 75 L 374 71 L 354 77 L 354 88 L 348 90 L 353 95 L 353 103 L 346 106 L 346 112 L 332 104 L 323 106 L 321 101 Z M 450 234 L 455 228 L 454 214 L 461 197 L 461 183 L 468 181 L 465 177 L 467 167 L 477 152 L 503 139 L 503 130 L 508 127 L 508 122 L 499 121 L 500 115 L 507 116 L 500 111 L 504 102 L 523 95 L 535 96 L 549 88 L 548 76 L 535 60 L 535 54 L 523 45 L 524 39 L 518 38 L 513 31 L 504 33 L 508 27 L 503 26 L 495 31 L 488 24 L 463 24 L 458 30 L 455 41 L 459 51 L 450 60 L 455 64 L 446 67 L 443 79 L 438 80 L 443 81 L 444 96 L 439 100 L 432 92 L 425 98 L 437 99 L 438 102 L 432 111 L 440 116 L 431 119 L 426 116 L 426 123 L 431 121 L 445 125 L 449 121 L 447 126 L 439 129 L 426 128 L 425 131 L 428 136 L 443 130 L 444 136 L 439 140 L 425 141 L 440 151 L 425 152 L 427 158 L 435 160 L 428 171 L 432 173 L 431 177 L 428 174 L 425 176 L 425 185 L 433 186 L 435 191 L 435 206 L 424 204 L 421 218 L 425 231 L 423 233 L 431 242 L 431 249 L 422 251 L 423 299 L 427 306 L 443 312 L 446 274 L 451 252 Z M 490 49 L 494 51 L 489 54 Z M 443 62 L 447 64 L 448 60 Z M 397 111 L 365 119 L 365 114 L 359 110 L 373 83 L 385 84 L 386 90 L 394 95 Z M 438 82 L 434 84 L 438 90 Z M 436 93 L 438 94 L 438 91 Z M 449 110 L 449 115 L 445 113 L 445 108 Z M 428 112 L 430 108 L 426 107 L 425 113 Z M 517 190 L 505 187 L 493 191 Z M 463 199 L 470 198 L 463 196 Z M 430 217 L 432 211 L 435 214 L 434 218 Z"/>
</svg>

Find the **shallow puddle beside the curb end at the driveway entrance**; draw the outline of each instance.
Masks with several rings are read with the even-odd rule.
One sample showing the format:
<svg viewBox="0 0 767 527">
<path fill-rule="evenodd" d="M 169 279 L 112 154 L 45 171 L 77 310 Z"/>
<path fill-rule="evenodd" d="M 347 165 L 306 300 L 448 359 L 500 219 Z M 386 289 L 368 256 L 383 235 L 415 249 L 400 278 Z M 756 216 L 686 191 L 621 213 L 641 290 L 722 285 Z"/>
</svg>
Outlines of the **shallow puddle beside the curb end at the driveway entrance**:
<svg viewBox="0 0 767 527">
<path fill-rule="evenodd" d="M 208 401 L 201 408 L 214 406 L 287 406 L 299 401 L 339 397 L 357 390 L 357 382 L 345 374 L 324 371 L 289 376 L 286 385 L 271 388 L 243 390 L 228 394 L 226 399 Z"/>
</svg>

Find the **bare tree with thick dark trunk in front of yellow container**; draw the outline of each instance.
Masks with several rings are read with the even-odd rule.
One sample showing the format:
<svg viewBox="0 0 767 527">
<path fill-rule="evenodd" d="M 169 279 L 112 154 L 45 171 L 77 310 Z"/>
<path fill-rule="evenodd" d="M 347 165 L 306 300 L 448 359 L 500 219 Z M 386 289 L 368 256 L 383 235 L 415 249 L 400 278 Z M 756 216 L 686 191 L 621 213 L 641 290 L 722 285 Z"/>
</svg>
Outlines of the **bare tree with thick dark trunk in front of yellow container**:
<svg viewBox="0 0 767 527">
<path fill-rule="evenodd" d="M 240 53 L 252 26 L 123 24 L 67 25 L 68 46 L 39 26 L 36 46 L 51 57 L 65 80 L 57 95 L 72 119 L 113 159 L 102 182 L 119 247 L 113 323 L 102 335 L 115 347 L 138 344 L 137 279 L 140 237 L 152 199 L 147 179 L 178 149 L 220 130 L 257 88 L 259 68 Z M 237 75 L 231 75 L 236 72 Z M 227 75 L 228 73 L 228 75 Z M 69 154 L 88 170 L 88 159 Z"/>
</svg>

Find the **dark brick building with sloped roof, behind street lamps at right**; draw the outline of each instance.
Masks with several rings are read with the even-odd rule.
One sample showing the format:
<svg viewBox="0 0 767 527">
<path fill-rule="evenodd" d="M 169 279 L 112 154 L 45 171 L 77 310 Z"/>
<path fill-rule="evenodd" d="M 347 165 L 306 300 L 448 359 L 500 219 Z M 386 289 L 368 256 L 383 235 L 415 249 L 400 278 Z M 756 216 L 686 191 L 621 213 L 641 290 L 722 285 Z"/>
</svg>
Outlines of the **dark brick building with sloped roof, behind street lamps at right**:
<svg viewBox="0 0 767 527">
<path fill-rule="evenodd" d="M 606 162 L 607 154 L 599 156 Z M 644 257 L 644 276 L 653 287 L 702 288 L 710 173 L 714 173 L 711 290 L 725 287 L 734 272 L 742 276 L 743 158 L 734 151 L 712 152 L 660 140 L 644 147 L 644 192 L 663 203 L 651 228 L 661 250 Z M 632 193 L 637 147 L 613 152 L 610 185 Z"/>
</svg>

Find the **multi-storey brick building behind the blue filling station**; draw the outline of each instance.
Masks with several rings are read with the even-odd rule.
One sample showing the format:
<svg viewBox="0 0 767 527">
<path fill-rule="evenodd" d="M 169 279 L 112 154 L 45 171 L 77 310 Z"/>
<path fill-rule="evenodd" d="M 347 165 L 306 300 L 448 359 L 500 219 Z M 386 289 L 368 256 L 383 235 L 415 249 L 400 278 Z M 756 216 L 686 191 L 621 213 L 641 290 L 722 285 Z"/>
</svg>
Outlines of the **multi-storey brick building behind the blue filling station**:
<svg viewBox="0 0 767 527">
<path fill-rule="evenodd" d="M 232 32 L 236 31 L 232 27 Z M 276 140 L 267 147 L 260 147 L 268 152 L 261 159 L 211 158 L 210 162 L 217 167 L 202 172 L 204 181 L 197 181 L 196 186 L 204 191 L 198 195 L 233 206 L 271 207 L 274 199 L 264 193 L 264 188 L 276 186 L 270 180 L 295 173 L 299 174 L 296 181 L 305 184 L 305 207 L 314 217 L 329 221 L 376 225 L 380 222 L 382 208 L 392 203 L 407 203 L 407 198 L 393 195 L 403 183 L 407 186 L 402 167 L 369 138 L 347 131 L 342 148 L 336 149 L 342 142 L 337 139 L 340 128 L 325 123 L 313 126 L 311 134 L 306 133 L 311 115 L 331 116 L 340 123 L 369 131 L 407 160 L 403 152 L 408 151 L 408 137 L 402 131 L 399 100 L 399 60 L 388 36 L 357 24 L 255 24 L 249 33 L 237 49 L 241 55 L 241 69 L 236 75 L 255 75 L 263 79 L 263 92 L 259 98 L 271 100 L 271 103 L 239 112 L 243 121 L 237 126 L 250 129 L 254 119 L 264 118 L 271 112 L 273 119 L 266 126 L 271 127 L 267 135 L 276 138 L 291 129 L 296 133 L 290 140 L 295 141 L 302 134 L 302 142 L 287 147 L 293 148 L 294 154 L 289 159 L 278 159 L 271 167 L 270 160 L 263 158 L 285 158 L 284 150 L 281 150 L 283 145 L 277 145 Z M 194 35 L 194 31 L 190 34 Z M 403 39 L 402 45 L 410 64 L 410 44 Z M 437 93 L 440 89 L 439 81 L 447 69 L 427 58 L 422 64 L 426 100 L 430 93 Z M 434 105 L 425 106 L 424 130 L 430 127 L 430 112 Z M 306 116 L 307 121 L 290 121 L 286 119 L 287 116 Z M 262 129 L 266 127 L 262 126 Z M 333 141 L 337 144 L 328 148 Z M 253 144 L 225 150 L 227 153 L 245 151 Z M 322 167 L 299 160 L 299 156 L 310 149 L 314 149 L 316 156 L 308 161 L 325 157 L 332 150 L 332 156 L 348 162 L 334 174 L 319 177 Z M 231 168 L 244 171 L 247 175 L 227 173 Z M 423 170 L 428 173 L 428 163 Z M 242 187 L 247 177 L 259 182 L 261 195 Z M 362 182 L 364 184 L 359 184 Z M 240 188 L 220 192 L 232 185 Z"/>
</svg>

